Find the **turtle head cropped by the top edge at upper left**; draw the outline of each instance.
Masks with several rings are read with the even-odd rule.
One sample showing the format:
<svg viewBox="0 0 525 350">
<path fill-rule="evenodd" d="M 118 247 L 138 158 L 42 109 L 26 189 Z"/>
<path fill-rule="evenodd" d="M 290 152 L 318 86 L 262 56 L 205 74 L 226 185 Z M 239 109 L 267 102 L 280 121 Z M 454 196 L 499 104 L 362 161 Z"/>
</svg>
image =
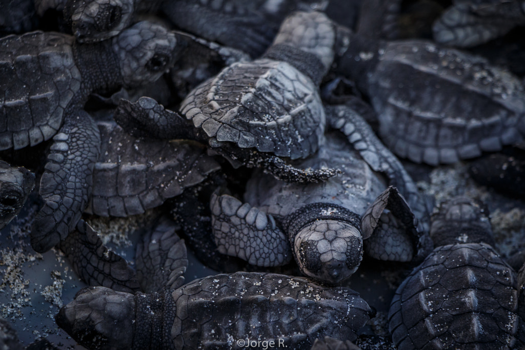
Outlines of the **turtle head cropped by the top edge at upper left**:
<svg viewBox="0 0 525 350">
<path fill-rule="evenodd" d="M 64 7 L 64 17 L 80 43 L 94 43 L 127 28 L 133 9 L 133 0 L 73 0 Z"/>
</svg>

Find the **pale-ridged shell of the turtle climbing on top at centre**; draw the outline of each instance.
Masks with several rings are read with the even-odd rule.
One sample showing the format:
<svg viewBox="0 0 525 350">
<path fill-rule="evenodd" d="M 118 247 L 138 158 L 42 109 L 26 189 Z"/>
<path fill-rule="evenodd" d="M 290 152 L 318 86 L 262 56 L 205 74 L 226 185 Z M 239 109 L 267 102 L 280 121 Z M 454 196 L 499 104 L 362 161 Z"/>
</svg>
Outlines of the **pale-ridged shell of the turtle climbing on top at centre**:
<svg viewBox="0 0 525 350">
<path fill-rule="evenodd" d="M 210 141 L 292 159 L 315 152 L 324 133 L 317 86 L 283 61 L 234 63 L 190 92 L 181 111 Z"/>
</svg>

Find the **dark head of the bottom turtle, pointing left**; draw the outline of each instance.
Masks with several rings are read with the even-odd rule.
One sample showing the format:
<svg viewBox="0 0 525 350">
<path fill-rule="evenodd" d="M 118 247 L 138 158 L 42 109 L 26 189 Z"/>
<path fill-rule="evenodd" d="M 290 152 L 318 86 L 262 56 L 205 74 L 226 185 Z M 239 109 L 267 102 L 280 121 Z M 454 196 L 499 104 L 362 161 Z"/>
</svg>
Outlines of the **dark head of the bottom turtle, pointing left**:
<svg viewBox="0 0 525 350">
<path fill-rule="evenodd" d="M 106 287 L 82 288 L 62 306 L 57 324 L 87 348 L 131 349 L 135 323 L 135 296 Z"/>
</svg>

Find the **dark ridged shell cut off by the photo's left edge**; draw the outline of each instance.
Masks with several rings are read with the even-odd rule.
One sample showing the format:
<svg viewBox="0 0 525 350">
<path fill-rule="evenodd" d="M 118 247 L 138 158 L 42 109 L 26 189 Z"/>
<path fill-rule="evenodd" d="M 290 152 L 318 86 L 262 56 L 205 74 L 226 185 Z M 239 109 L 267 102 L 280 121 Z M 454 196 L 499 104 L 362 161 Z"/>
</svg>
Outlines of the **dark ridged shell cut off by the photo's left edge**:
<svg viewBox="0 0 525 350">
<path fill-rule="evenodd" d="M 0 39 L 0 150 L 50 139 L 80 89 L 74 38 L 35 31 Z"/>
</svg>

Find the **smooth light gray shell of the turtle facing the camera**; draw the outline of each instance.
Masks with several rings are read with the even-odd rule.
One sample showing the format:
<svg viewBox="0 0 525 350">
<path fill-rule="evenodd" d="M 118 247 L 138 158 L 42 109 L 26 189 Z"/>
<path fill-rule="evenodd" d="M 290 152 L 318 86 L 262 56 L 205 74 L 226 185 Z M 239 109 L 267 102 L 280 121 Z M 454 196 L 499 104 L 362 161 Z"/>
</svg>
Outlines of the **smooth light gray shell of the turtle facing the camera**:
<svg viewBox="0 0 525 350">
<path fill-rule="evenodd" d="M 337 204 L 362 215 L 386 188 L 381 175 L 372 171 L 348 141 L 335 132 L 327 135 L 318 153 L 298 166 L 337 168 L 341 174 L 322 183 L 291 184 L 257 173 L 246 185 L 245 200 L 281 218 L 304 205 L 319 202 Z"/>
</svg>

